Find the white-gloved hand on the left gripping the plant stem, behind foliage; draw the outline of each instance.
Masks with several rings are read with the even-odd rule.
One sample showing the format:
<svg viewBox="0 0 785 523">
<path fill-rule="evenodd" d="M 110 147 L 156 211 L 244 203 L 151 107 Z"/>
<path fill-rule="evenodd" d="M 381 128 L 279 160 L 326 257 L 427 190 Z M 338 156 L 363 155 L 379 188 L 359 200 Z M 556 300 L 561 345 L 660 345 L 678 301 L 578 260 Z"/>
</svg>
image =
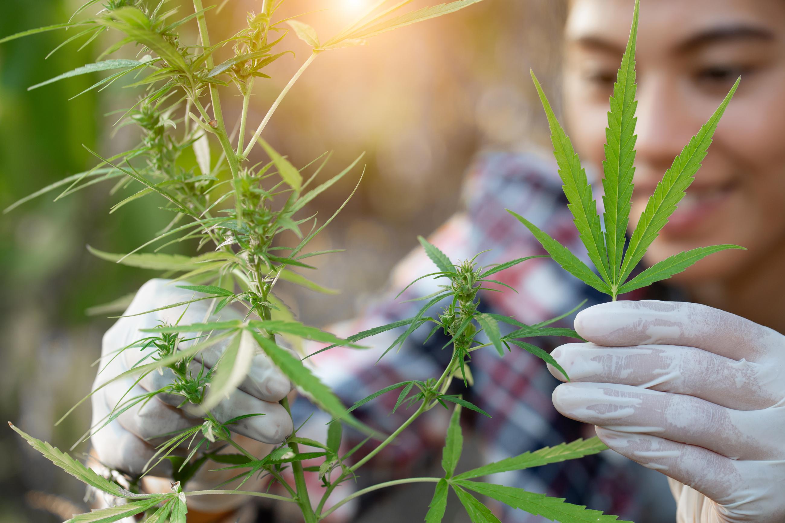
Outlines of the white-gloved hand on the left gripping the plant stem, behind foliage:
<svg viewBox="0 0 785 523">
<path fill-rule="evenodd" d="M 159 307 L 165 307 L 172 303 L 180 303 L 192 300 L 195 297 L 204 296 L 193 291 L 177 289 L 175 285 L 187 285 L 184 282 L 172 283 L 162 279 L 150 280 L 142 285 L 133 302 L 128 307 L 124 315 L 138 314 L 144 311 L 151 311 Z M 100 372 L 98 373 L 93 390 L 102 383 L 118 376 L 120 373 L 130 369 L 137 363 L 144 354 L 155 350 L 155 347 L 140 350 L 138 347 L 127 348 L 122 351 L 117 358 L 116 351 L 126 347 L 130 343 L 141 338 L 152 336 L 148 332 L 141 332 L 141 329 L 150 329 L 160 325 L 165 321 L 167 325 L 177 324 L 183 311 L 183 317 L 179 325 L 200 323 L 203 321 L 217 321 L 237 318 L 238 314 L 226 307 L 219 313 L 219 317 L 207 318 L 213 300 L 203 300 L 190 303 L 186 311 L 186 306 L 173 307 L 163 311 L 156 311 L 130 318 L 120 318 L 115 325 L 112 325 L 104 335 L 101 348 Z M 198 340 L 201 341 L 201 340 Z M 190 346 L 195 342 L 183 342 L 181 348 Z M 228 340 L 216 343 L 212 347 L 203 350 L 192 362 L 192 368 L 196 372 L 201 369 L 201 362 L 206 368 L 215 365 L 218 358 L 225 350 Z M 111 360 L 111 362 L 109 362 Z M 151 362 L 147 359 L 144 363 Z M 105 369 L 104 369 L 105 366 Z M 139 383 L 134 384 L 139 376 L 128 376 L 93 394 L 93 425 L 100 419 L 107 416 L 119 401 L 126 401 L 147 391 L 159 390 L 173 381 L 173 372 L 170 369 L 163 369 L 162 372 L 151 372 Z M 264 416 L 254 416 L 243 419 L 232 425 L 232 430 L 242 436 L 235 435 L 235 441 L 254 456 L 265 456 L 272 450 L 271 444 L 277 444 L 287 438 L 292 431 L 291 418 L 286 409 L 279 405 L 278 401 L 283 399 L 291 390 L 290 381 L 283 375 L 272 361 L 265 355 L 257 353 L 254 356 L 253 364 L 248 376 L 240 384 L 239 389 L 235 390 L 229 398 L 221 401 L 213 414 L 219 422 L 232 419 L 235 416 L 261 412 Z M 129 391 L 130 390 L 130 391 Z M 127 394 L 126 394 L 127 393 Z M 143 406 L 133 406 L 123 412 L 117 419 L 109 423 L 97 432 L 94 432 L 91 440 L 93 451 L 101 463 L 108 467 L 122 470 L 130 474 L 140 474 L 145 463 L 155 454 L 155 447 L 171 438 L 173 431 L 194 427 L 203 423 L 199 416 L 199 408 L 194 405 L 184 406 L 177 409 L 184 398 L 181 396 L 169 396 L 159 394 L 152 401 L 143 402 Z M 187 412 L 186 412 L 187 411 Z M 161 438 L 162 434 L 169 434 Z M 199 441 L 201 434 L 197 435 Z M 245 437 L 245 438 L 244 438 Z M 184 444 L 183 446 L 186 446 Z M 215 448 L 215 445 L 212 446 Z M 188 454 L 187 449 L 178 449 L 182 456 Z M 235 453 L 235 449 L 228 448 L 227 452 Z M 156 458 L 157 460 L 158 458 Z M 152 462 L 155 463 L 155 460 Z M 200 472 L 188 481 L 187 490 L 199 490 L 214 488 L 215 485 L 232 478 L 238 472 L 228 470 L 226 472 L 209 472 L 208 469 L 225 467 L 216 463 L 206 463 Z M 168 459 L 163 460 L 158 467 L 153 469 L 152 474 L 157 476 L 168 476 L 171 473 L 171 465 Z M 148 482 L 150 484 L 155 481 Z M 169 490 L 168 481 L 159 481 L 163 489 Z M 243 489 L 253 489 L 254 481 L 249 481 L 243 485 Z M 232 488 L 227 486 L 225 488 Z M 247 498 L 244 496 L 196 496 L 188 498 L 188 506 L 195 507 L 203 511 L 228 510 L 232 507 L 245 503 Z"/>
</svg>

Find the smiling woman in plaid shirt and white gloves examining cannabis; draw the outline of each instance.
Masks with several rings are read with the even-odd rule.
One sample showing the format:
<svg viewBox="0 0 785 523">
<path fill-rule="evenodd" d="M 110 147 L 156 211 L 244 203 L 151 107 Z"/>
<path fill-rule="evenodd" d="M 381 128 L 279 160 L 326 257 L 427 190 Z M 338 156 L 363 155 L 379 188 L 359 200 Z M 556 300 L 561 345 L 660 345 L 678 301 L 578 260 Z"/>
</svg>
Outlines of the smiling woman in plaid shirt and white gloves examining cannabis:
<svg viewBox="0 0 785 523">
<path fill-rule="evenodd" d="M 608 96 L 631 13 L 630 0 L 574 0 L 565 25 L 564 114 L 584 165 L 597 173 L 604 158 Z M 785 337 L 777 331 L 785 332 L 780 312 L 785 309 L 780 271 L 785 253 L 785 3 L 648 0 L 641 6 L 638 35 L 638 152 L 630 227 L 674 156 L 732 81 L 743 76 L 703 169 L 644 263 L 701 245 L 734 243 L 749 250 L 710 256 L 666 286 L 623 296 L 692 303 L 619 301 L 582 311 L 575 329 L 596 345 L 571 343 L 553 350 L 573 379 L 555 391 L 556 382 L 528 354 L 499 359 L 479 351 L 471 364 L 475 384 L 462 392 L 493 417 L 478 416 L 469 423 L 485 462 L 585 435 L 586 426 L 577 422 L 597 425 L 597 434 L 616 452 L 669 478 L 678 521 L 783 521 L 785 496 L 777 494 L 785 480 Z M 505 207 L 564 245 L 579 245 L 549 162 L 531 155 L 486 156 L 469 178 L 466 195 L 466 212 L 433 236 L 453 260 L 482 249 L 494 249 L 483 263 L 540 252 Z M 427 272 L 424 254 L 414 252 L 393 274 L 392 289 Z M 601 301 L 550 260 L 532 260 L 500 274 L 520 294 L 491 293 L 484 297 L 484 307 L 522 321 L 542 321 L 584 297 L 590 304 Z M 171 291 L 163 292 L 161 285 L 145 285 L 132 309 L 170 303 Z M 411 296 L 427 293 L 429 285 L 423 281 L 411 289 Z M 335 330 L 351 334 L 406 315 L 406 305 L 394 304 L 387 296 L 360 320 Z M 104 338 L 104 351 L 137 337 L 138 328 L 119 321 Z M 385 339 L 374 343 L 382 346 Z M 425 347 L 412 340 L 375 366 L 376 351 L 347 355 L 347 350 L 335 349 L 317 363 L 323 378 L 353 401 L 400 381 L 399 376 L 429 376 L 429 370 L 443 363 L 440 346 L 438 340 Z M 256 387 L 243 393 L 244 408 L 250 401 L 268 415 L 252 419 L 243 432 L 276 443 L 291 426 L 274 402 L 289 387 L 280 386 L 275 369 L 260 363 L 257 371 Z M 270 387 L 272 382 L 278 386 Z M 111 402 L 112 388 L 104 390 L 93 399 L 99 413 Z M 553 412 L 551 391 L 553 404 L 571 419 Z M 167 416 L 182 416 L 155 402 L 149 405 L 152 411 L 128 413 L 112 432 L 93 437 L 100 459 L 125 470 L 146 461 L 151 450 L 139 437 L 159 434 L 155 429 L 166 426 Z M 305 409 L 300 401 L 295 418 Z M 382 427 L 396 426 L 395 416 L 377 412 L 369 410 L 365 416 L 375 414 Z M 319 423 L 312 420 L 310 425 Z M 384 453 L 379 456 L 382 465 L 395 463 L 400 473 L 407 463 L 439 452 L 432 433 L 433 423 L 412 427 L 386 461 Z M 384 467 L 381 470 L 374 474 L 383 474 Z M 645 488 L 637 478 L 629 467 L 595 456 L 526 470 L 505 478 L 505 483 L 644 521 L 637 499 Z M 422 503 L 422 514 L 424 507 Z M 235 521 L 236 514 L 227 514 L 230 508 L 203 505 L 201 510 L 211 513 L 203 515 L 205 521 Z M 520 510 L 500 517 L 542 521 Z"/>
</svg>

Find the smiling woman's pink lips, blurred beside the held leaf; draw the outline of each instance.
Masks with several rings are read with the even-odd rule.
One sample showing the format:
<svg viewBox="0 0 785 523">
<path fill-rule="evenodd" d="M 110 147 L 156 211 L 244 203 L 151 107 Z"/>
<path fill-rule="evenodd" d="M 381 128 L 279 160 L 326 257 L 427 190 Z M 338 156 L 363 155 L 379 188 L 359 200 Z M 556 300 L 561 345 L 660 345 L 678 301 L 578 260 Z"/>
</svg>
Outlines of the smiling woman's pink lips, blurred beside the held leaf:
<svg viewBox="0 0 785 523">
<path fill-rule="evenodd" d="M 663 234 L 688 234 L 705 226 L 707 222 L 717 216 L 717 212 L 721 211 L 736 188 L 736 183 L 732 182 L 688 187 L 687 194 L 679 202 L 676 211 L 663 227 Z M 641 197 L 648 202 L 648 195 L 644 197 L 641 194 Z"/>
</svg>

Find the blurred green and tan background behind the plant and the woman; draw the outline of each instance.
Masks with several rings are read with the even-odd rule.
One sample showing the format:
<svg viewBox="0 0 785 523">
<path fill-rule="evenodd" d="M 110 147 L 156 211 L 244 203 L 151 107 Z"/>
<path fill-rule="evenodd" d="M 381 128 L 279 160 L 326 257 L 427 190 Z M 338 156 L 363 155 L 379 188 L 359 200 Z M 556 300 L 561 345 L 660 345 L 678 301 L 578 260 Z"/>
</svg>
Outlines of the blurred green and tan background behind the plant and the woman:
<svg viewBox="0 0 785 523">
<path fill-rule="evenodd" d="M 327 35 L 368 2 L 288 0 L 281 16 L 327 4 L 330 9 L 303 19 Z M 436 2 L 413 6 L 426 3 Z M 0 38 L 64 22 L 81 4 L 3 0 Z M 219 16 L 211 16 L 211 32 L 234 33 L 245 24 L 246 12 L 260 5 L 230 0 Z M 486 0 L 372 38 L 367 46 L 327 53 L 306 71 L 265 138 L 294 165 L 335 151 L 329 173 L 366 151 L 367 170 L 355 197 L 313 245 L 347 249 L 314 259 L 319 263 L 314 279 L 341 294 L 276 288 L 301 321 L 326 325 L 352 317 L 384 285 L 392 265 L 414 248 L 416 235 L 429 234 L 458 209 L 464 173 L 479 151 L 520 150 L 547 140 L 528 69 L 534 67 L 552 93 L 557 89 L 563 11 L 562 2 L 553 0 Z M 100 38 L 80 51 L 71 44 L 44 60 L 67 36 L 53 31 L 0 45 L 0 209 L 92 167 L 82 144 L 108 155 L 136 140 L 121 135 L 113 141 L 114 120 L 104 117 L 133 104 L 130 89 L 93 90 L 69 100 L 100 79 L 87 74 L 27 92 L 30 85 L 94 61 L 106 45 Z M 265 70 L 272 80 L 257 79 L 249 120 L 254 127 L 308 56 L 294 35 L 287 38 L 298 56 L 285 56 Z M 233 122 L 241 99 L 229 90 L 222 101 Z M 313 211 L 333 212 L 359 175 L 356 169 L 346 176 L 317 199 Z M 85 247 L 128 252 L 169 219 L 152 198 L 109 216 L 118 199 L 109 188 L 97 184 L 58 202 L 52 202 L 57 193 L 47 194 L 0 215 L 0 412 L 61 449 L 89 427 L 88 405 L 60 426 L 54 422 L 89 392 L 95 373 L 89 365 L 112 321 L 90 317 L 86 309 L 133 292 L 155 275 L 98 260 Z M 81 484 L 5 429 L 0 492 L 2 523 L 61 521 L 42 509 L 70 515 L 73 505 L 84 508 Z"/>
</svg>

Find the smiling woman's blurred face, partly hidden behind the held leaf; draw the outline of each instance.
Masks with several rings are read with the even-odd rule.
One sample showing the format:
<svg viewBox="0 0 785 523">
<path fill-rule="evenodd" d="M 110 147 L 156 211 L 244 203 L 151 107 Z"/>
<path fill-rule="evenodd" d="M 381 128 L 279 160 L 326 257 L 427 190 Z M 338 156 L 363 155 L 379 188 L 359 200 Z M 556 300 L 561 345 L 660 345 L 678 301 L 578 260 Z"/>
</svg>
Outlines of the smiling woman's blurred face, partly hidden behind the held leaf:
<svg viewBox="0 0 785 523">
<path fill-rule="evenodd" d="M 574 0 L 565 30 L 564 107 L 583 162 L 601 169 L 608 96 L 632 0 Z M 785 243 L 785 1 L 642 0 L 637 37 L 637 157 L 630 227 L 655 184 L 739 75 L 709 154 L 652 244 L 648 264 L 699 246 L 682 285 L 732 278 Z"/>
</svg>

